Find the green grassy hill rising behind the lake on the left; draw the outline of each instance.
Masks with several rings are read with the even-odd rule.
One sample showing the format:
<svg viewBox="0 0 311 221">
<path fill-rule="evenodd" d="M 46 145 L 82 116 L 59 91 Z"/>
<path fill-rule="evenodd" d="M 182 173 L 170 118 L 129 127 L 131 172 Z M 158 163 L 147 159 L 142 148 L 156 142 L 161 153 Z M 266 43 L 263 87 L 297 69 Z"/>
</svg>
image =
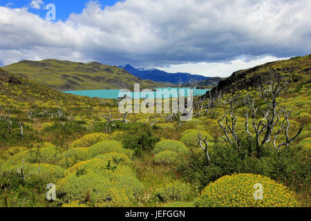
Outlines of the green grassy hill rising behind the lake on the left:
<svg viewBox="0 0 311 221">
<path fill-rule="evenodd" d="M 3 69 L 57 90 L 122 89 L 133 88 L 133 84 L 140 84 L 141 88 L 164 86 L 151 80 L 142 80 L 116 66 L 97 62 L 84 64 L 56 59 L 19 61 Z"/>
</svg>

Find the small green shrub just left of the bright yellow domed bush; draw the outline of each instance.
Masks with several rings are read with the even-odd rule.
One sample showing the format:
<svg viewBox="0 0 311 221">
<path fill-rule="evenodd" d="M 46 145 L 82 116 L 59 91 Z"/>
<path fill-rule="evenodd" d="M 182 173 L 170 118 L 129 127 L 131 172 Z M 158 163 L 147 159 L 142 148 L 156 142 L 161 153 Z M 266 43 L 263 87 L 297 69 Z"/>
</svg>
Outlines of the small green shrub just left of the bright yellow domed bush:
<svg viewBox="0 0 311 221">
<path fill-rule="evenodd" d="M 167 202 L 170 200 L 184 201 L 189 200 L 191 197 L 190 184 L 180 182 L 179 180 L 173 181 L 167 186 L 160 188 L 156 191 L 156 197 L 161 201 Z"/>
</svg>

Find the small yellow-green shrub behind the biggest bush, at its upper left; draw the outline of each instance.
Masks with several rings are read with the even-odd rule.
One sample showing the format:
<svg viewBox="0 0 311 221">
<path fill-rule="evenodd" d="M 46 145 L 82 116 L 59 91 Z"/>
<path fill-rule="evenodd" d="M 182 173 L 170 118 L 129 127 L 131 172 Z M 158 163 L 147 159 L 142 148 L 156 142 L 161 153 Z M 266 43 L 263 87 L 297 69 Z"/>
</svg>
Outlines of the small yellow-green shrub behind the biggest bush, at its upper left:
<svg viewBox="0 0 311 221">
<path fill-rule="evenodd" d="M 62 153 L 62 159 L 59 161 L 59 165 L 69 167 L 87 159 L 88 159 L 87 147 L 71 148 L 68 151 Z"/>
</svg>

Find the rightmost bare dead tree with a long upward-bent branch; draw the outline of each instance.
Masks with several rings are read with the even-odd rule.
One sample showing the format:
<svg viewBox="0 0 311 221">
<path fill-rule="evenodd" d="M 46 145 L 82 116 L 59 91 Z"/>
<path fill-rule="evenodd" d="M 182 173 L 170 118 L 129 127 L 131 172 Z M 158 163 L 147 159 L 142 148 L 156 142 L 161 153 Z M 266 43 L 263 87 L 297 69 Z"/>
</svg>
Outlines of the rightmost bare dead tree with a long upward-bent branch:
<svg viewBox="0 0 311 221">
<path fill-rule="evenodd" d="M 290 121 L 289 121 L 288 118 L 292 114 L 292 111 L 286 111 L 286 109 L 284 108 L 283 110 L 281 110 L 281 112 L 283 114 L 284 119 L 283 119 L 281 128 L 279 128 L 278 132 L 276 132 L 276 135 L 275 135 L 274 140 L 273 140 L 273 146 L 274 146 L 274 148 L 276 148 L 276 150 L 279 150 L 279 148 L 281 148 L 281 146 L 285 146 L 286 148 L 288 148 L 290 143 L 293 142 L 296 139 L 296 137 L 299 136 L 299 134 L 303 130 L 303 125 L 304 125 L 304 124 L 301 124 L 301 126 L 299 128 L 299 131 L 296 133 L 296 135 L 294 135 L 294 137 L 290 138 L 290 136 L 288 135 L 288 132 L 290 130 Z M 279 144 L 278 146 L 276 146 L 276 140 L 277 140 L 279 134 L 283 130 L 285 130 L 284 133 L 285 133 L 286 140 L 285 140 L 285 142 L 283 142 L 283 143 Z"/>
</svg>

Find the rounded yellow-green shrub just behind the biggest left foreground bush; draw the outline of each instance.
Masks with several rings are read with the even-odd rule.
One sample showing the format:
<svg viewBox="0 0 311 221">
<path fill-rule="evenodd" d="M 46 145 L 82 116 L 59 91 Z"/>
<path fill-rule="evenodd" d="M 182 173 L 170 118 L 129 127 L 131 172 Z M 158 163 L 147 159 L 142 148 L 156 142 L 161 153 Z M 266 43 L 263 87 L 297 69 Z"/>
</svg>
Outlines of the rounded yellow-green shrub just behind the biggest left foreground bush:
<svg viewBox="0 0 311 221">
<path fill-rule="evenodd" d="M 88 150 L 88 155 L 93 158 L 96 155 L 111 152 L 124 153 L 130 157 L 133 153 L 133 151 L 123 148 L 120 142 L 117 142 L 115 140 L 105 140 L 91 146 Z"/>
</svg>

